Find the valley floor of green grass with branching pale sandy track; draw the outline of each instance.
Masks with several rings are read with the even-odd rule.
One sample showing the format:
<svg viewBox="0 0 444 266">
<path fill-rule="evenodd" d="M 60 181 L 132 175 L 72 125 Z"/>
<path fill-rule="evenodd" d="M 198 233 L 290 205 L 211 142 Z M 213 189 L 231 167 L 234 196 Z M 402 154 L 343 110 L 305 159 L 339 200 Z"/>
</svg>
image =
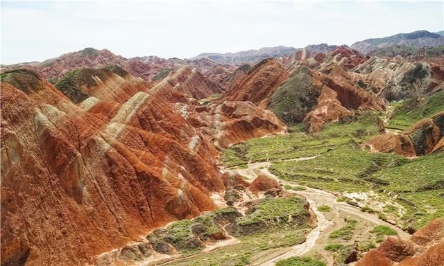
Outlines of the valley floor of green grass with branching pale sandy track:
<svg viewBox="0 0 444 266">
<path fill-rule="evenodd" d="M 222 172 L 248 182 L 259 175 L 277 180 L 289 195 L 307 199 L 316 222 L 246 236 L 230 236 L 224 226 L 225 238 L 203 249 L 169 256 L 156 253 L 124 265 L 271 266 L 294 256 L 311 257 L 328 266 L 353 265 L 388 236 L 409 239 L 408 229 L 418 229 L 444 214 L 444 191 L 439 186 L 444 157 L 405 159 L 366 150 L 365 141 L 377 134 L 371 116 L 361 116 L 357 121 L 327 125 L 316 136 L 296 127 L 286 135 L 228 148 L 221 157 Z M 227 207 L 223 197 L 212 195 L 221 210 Z M 246 217 L 249 203 L 264 199 L 264 194 L 246 190 L 242 197 L 234 208 Z"/>
</svg>

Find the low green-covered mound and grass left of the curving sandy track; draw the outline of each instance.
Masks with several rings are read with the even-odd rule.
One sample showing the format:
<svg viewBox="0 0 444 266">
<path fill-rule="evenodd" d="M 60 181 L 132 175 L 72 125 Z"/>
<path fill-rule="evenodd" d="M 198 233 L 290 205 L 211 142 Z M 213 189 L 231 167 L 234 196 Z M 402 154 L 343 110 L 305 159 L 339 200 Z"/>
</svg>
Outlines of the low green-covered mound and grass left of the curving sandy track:
<svg viewBox="0 0 444 266">
<path fill-rule="evenodd" d="M 193 220 L 174 222 L 167 227 L 167 230 L 164 230 L 166 231 L 164 233 L 154 231 L 148 236 L 148 240 L 167 241 L 174 247 L 178 247 L 182 255 L 190 256 L 183 260 L 172 261 L 167 265 L 248 265 L 265 254 L 305 241 L 305 235 L 310 229 L 307 225 L 308 214 L 304 204 L 304 199 L 298 196 L 266 198 L 246 211 L 246 216 L 233 215 L 237 212 L 233 208 L 204 213 Z M 198 242 L 194 241 L 193 234 L 199 232 L 198 238 L 205 241 L 210 238 L 211 232 L 219 232 L 223 224 L 227 222 L 230 224 L 225 229 L 230 235 L 236 235 L 240 242 L 221 247 L 210 253 L 201 252 L 202 247 L 195 245 Z M 248 231 L 241 234 L 233 233 L 233 224 L 234 229 L 240 224 L 246 226 Z M 265 230 L 259 228 L 263 225 L 265 225 Z M 200 233 L 203 229 L 207 238 Z"/>
</svg>

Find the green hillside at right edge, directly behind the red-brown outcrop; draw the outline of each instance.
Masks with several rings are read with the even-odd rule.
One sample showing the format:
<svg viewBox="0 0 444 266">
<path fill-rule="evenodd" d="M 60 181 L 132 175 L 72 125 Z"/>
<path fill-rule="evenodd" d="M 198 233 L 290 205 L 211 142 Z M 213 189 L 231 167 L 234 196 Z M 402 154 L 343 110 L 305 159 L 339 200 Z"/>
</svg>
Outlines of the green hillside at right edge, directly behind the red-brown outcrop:
<svg viewBox="0 0 444 266">
<path fill-rule="evenodd" d="M 436 91 L 425 98 L 405 100 L 395 107 L 388 127 L 405 130 L 422 118 L 429 118 L 444 111 L 444 90 Z"/>
</svg>

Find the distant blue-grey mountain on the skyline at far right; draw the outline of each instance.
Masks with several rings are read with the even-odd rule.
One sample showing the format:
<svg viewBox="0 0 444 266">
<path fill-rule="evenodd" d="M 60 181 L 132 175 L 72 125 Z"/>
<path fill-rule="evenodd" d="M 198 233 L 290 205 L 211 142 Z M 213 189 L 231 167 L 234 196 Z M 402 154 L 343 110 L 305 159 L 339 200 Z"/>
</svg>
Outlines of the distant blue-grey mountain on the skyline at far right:
<svg viewBox="0 0 444 266">
<path fill-rule="evenodd" d="M 418 30 L 413 33 L 400 33 L 384 38 L 364 39 L 364 41 L 355 42 L 350 48 L 353 48 L 360 53 L 369 54 L 379 48 L 386 48 L 395 44 L 413 46 L 416 48 L 435 47 L 444 44 L 444 36 L 430 33 L 427 30 Z"/>
</svg>

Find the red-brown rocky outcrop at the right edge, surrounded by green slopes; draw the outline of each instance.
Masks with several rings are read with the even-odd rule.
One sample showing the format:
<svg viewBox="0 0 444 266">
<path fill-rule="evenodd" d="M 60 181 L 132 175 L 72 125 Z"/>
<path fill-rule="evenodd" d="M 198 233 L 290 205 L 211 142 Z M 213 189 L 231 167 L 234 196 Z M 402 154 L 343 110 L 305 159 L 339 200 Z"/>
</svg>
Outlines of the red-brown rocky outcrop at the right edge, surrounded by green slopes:
<svg viewBox="0 0 444 266">
<path fill-rule="evenodd" d="M 403 134 L 382 134 L 368 141 L 377 152 L 390 152 L 415 157 L 443 150 L 444 112 L 425 118 Z"/>
</svg>

